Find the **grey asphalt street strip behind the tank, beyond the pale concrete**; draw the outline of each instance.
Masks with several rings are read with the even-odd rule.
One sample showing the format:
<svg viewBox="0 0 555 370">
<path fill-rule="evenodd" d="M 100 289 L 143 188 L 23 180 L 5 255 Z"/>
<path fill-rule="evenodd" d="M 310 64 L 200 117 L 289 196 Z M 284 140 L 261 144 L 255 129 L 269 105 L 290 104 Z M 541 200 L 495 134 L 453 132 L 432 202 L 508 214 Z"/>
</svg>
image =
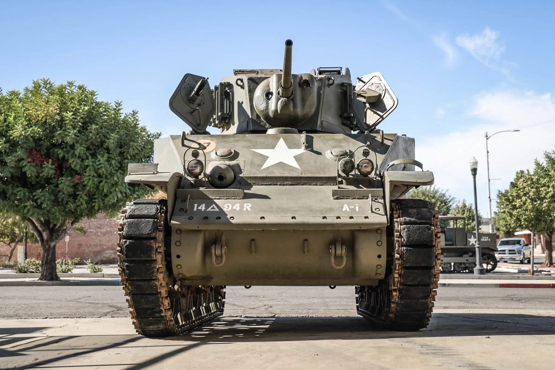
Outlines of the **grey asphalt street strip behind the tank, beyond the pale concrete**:
<svg viewBox="0 0 555 370">
<path fill-rule="evenodd" d="M 356 316 L 355 288 L 226 288 L 226 316 Z M 120 286 L 0 287 L 0 318 L 128 317 Z M 555 289 L 439 288 L 437 309 L 555 310 Z"/>
</svg>

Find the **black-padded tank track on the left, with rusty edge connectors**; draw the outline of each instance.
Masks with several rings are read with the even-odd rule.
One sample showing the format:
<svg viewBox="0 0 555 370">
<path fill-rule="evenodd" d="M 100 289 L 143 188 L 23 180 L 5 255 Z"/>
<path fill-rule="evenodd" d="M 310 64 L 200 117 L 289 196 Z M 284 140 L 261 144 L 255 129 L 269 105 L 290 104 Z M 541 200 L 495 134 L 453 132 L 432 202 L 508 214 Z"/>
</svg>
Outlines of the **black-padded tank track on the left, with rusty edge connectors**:
<svg viewBox="0 0 555 370">
<path fill-rule="evenodd" d="M 166 213 L 165 200 L 135 200 L 118 227 L 123 290 L 135 330 L 147 337 L 181 334 L 224 313 L 225 286 L 182 286 L 172 276 Z"/>
</svg>

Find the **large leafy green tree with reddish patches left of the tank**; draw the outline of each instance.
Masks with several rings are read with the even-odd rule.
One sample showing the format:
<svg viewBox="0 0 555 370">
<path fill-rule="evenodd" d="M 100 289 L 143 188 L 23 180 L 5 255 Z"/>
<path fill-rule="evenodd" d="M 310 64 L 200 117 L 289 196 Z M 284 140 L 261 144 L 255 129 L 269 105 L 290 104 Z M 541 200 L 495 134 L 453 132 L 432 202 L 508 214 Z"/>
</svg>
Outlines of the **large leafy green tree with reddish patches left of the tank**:
<svg viewBox="0 0 555 370">
<path fill-rule="evenodd" d="M 84 85 L 42 79 L 23 93 L 0 90 L 0 209 L 37 236 L 40 280 L 59 280 L 56 244 L 77 222 L 147 194 L 123 177 L 128 163 L 152 161 L 159 135 Z"/>
</svg>

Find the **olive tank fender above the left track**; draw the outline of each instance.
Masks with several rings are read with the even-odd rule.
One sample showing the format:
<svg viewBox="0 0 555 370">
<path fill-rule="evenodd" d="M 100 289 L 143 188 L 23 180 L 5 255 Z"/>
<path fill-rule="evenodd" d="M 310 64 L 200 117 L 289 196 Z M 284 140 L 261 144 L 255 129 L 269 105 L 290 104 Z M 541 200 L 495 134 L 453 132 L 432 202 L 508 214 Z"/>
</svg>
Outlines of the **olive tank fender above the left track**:
<svg viewBox="0 0 555 370">
<path fill-rule="evenodd" d="M 158 172 L 158 163 L 130 163 L 125 182 L 143 184 L 165 192 L 168 197 L 168 215 L 171 215 L 175 205 L 175 192 L 181 178 L 183 174 L 179 172 Z M 170 217 L 167 219 L 169 221 Z"/>
</svg>

